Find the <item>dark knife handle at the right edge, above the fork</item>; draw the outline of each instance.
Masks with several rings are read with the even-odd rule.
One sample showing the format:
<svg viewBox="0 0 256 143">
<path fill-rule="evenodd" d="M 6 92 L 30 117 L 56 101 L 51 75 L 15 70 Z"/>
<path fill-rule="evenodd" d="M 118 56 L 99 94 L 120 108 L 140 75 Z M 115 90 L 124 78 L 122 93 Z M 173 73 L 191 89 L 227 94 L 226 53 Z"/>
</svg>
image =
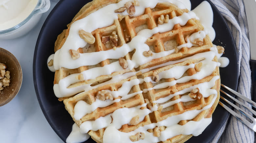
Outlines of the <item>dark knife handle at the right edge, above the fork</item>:
<svg viewBox="0 0 256 143">
<path fill-rule="evenodd" d="M 250 60 L 252 79 L 252 100 L 256 102 L 256 60 Z"/>
</svg>

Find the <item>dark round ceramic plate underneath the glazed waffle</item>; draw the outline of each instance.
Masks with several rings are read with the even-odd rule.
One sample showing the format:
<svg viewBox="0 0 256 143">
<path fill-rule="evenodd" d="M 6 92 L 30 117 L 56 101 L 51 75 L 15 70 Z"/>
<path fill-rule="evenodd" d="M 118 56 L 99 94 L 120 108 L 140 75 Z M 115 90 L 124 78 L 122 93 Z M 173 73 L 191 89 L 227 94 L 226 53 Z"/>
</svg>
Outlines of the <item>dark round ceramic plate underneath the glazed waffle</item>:
<svg viewBox="0 0 256 143">
<path fill-rule="evenodd" d="M 192 0 L 192 9 L 198 6 L 202 1 L 203 0 Z M 236 90 L 238 83 L 238 64 L 235 43 L 221 13 L 210 0 L 207 1 L 211 4 L 214 13 L 213 27 L 216 31 L 216 38 L 213 43 L 224 46 L 224 56 L 228 57 L 230 60 L 226 68 L 220 68 L 221 82 Z M 88 2 L 90 2 L 90 0 L 61 0 L 46 19 L 35 46 L 33 77 L 37 99 L 45 118 L 64 142 L 71 132 L 74 121 L 66 111 L 64 104 L 59 102 L 53 93 L 54 73 L 47 68 L 47 58 L 54 53 L 54 42 L 58 34 L 60 34 L 63 29 L 66 29 L 66 25 L 71 22 L 79 9 Z M 193 136 L 187 142 L 207 143 L 211 141 L 224 124 L 228 115 L 228 112 L 218 105 L 213 113 L 211 124 L 205 129 L 203 134 Z M 90 138 L 86 143 L 95 142 Z"/>
</svg>

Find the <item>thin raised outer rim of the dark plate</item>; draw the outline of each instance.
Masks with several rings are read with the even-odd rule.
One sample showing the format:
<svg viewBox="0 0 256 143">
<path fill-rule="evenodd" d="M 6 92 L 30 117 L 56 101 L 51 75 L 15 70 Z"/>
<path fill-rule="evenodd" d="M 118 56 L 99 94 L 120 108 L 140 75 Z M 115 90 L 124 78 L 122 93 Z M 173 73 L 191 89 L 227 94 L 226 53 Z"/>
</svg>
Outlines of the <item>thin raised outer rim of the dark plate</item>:
<svg viewBox="0 0 256 143">
<path fill-rule="evenodd" d="M 206 1 L 210 3 L 210 5 L 211 5 L 213 11 L 217 11 L 218 13 L 220 13 L 220 11 L 216 8 L 216 6 L 215 6 L 210 0 L 206 0 Z M 53 13 L 58 9 L 59 5 L 61 5 L 61 3 L 63 3 L 63 2 L 64 2 L 64 1 L 59 1 L 59 2 L 54 6 L 54 8 L 52 9 L 52 11 L 50 12 L 50 14 L 49 14 L 48 17 L 46 18 L 46 20 L 45 20 L 45 22 L 44 22 L 44 24 L 43 24 L 43 26 L 42 26 L 42 28 L 41 28 L 41 30 L 40 30 L 39 36 L 38 36 L 37 41 L 36 41 L 35 50 L 34 50 L 34 57 L 33 57 L 33 81 L 34 81 L 34 88 L 35 88 L 37 100 L 38 100 L 38 103 L 39 103 L 39 105 L 40 105 L 40 108 L 41 108 L 41 110 L 42 110 L 42 112 L 43 112 L 43 114 L 44 114 L 46 120 L 48 121 L 48 123 L 50 124 L 50 126 L 52 127 L 52 129 L 54 130 L 54 132 L 65 142 L 66 138 L 63 138 L 62 135 L 60 134 L 60 132 L 58 132 L 58 131 L 56 130 L 56 128 L 54 128 L 55 126 L 54 126 L 53 121 L 52 121 L 52 120 L 47 116 L 47 114 L 46 114 L 47 111 L 46 111 L 45 108 L 44 108 L 44 105 L 43 105 L 43 103 L 42 103 L 42 101 L 41 101 L 41 96 L 39 95 L 39 92 L 38 92 L 38 81 L 37 81 L 37 78 L 36 78 L 36 68 L 35 68 L 35 67 L 36 67 L 36 61 L 37 61 L 38 47 L 39 47 L 39 45 L 40 45 L 40 39 L 41 39 L 41 37 L 42 37 L 42 34 L 41 34 L 41 33 L 42 33 L 42 32 L 44 31 L 44 29 L 46 28 L 45 25 L 47 25 L 49 19 L 50 19 L 51 16 L 53 15 Z M 193 3 L 193 2 L 192 2 L 192 3 Z M 221 15 L 221 14 L 220 14 L 220 15 Z M 224 22 L 224 24 L 225 24 L 224 26 L 225 26 L 225 27 L 228 27 L 228 24 L 226 23 L 226 21 L 225 21 L 225 19 L 224 19 L 224 17 L 223 17 L 222 15 L 221 15 L 221 21 Z M 231 34 L 231 31 L 230 31 L 229 28 L 227 28 L 227 30 L 228 30 L 228 34 L 230 35 L 230 37 L 232 37 L 231 41 L 232 41 L 232 43 L 234 43 L 234 46 L 235 46 L 234 38 L 233 38 L 233 36 L 232 36 L 232 34 Z M 236 48 L 234 47 L 234 49 L 236 49 Z M 234 50 L 234 55 L 237 57 L 237 51 L 236 51 L 236 50 Z M 237 59 L 236 59 L 236 61 L 237 61 Z M 236 68 L 235 70 L 236 70 L 236 73 L 237 73 L 237 78 L 236 78 L 236 83 L 237 83 L 237 84 L 235 85 L 235 89 L 237 89 L 237 87 L 238 87 L 238 80 L 239 80 L 239 71 L 238 71 L 238 68 Z M 220 105 L 218 105 L 218 106 L 220 106 Z M 217 106 L 217 107 L 218 107 L 218 106 Z M 229 115 L 230 115 L 230 113 L 228 113 L 226 119 L 223 120 L 223 122 L 221 123 L 222 125 L 223 125 L 224 122 L 229 118 Z M 212 137 L 208 138 L 207 141 L 205 140 L 205 142 L 210 142 L 210 141 L 213 139 L 213 137 L 219 132 L 219 130 L 221 129 L 221 127 L 222 127 L 222 126 L 220 126 L 219 129 L 216 130 L 216 132 L 211 135 Z"/>
</svg>

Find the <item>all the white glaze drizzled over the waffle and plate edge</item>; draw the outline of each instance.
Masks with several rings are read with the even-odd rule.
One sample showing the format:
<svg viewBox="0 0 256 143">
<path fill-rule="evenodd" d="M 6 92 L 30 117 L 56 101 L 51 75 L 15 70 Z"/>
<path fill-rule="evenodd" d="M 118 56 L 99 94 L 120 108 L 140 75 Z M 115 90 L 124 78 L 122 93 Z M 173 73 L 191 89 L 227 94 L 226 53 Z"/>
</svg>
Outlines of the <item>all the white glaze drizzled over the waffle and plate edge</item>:
<svg viewBox="0 0 256 143">
<path fill-rule="evenodd" d="M 150 57 L 143 56 L 142 53 L 144 51 L 149 50 L 149 46 L 145 44 L 145 41 L 149 37 L 151 37 L 152 35 L 154 35 L 155 33 L 158 33 L 158 32 L 170 31 L 171 29 L 173 29 L 173 26 L 175 24 L 185 25 L 187 23 L 187 21 L 192 18 L 199 19 L 200 22 L 204 26 L 204 30 L 193 33 L 190 36 L 190 39 L 187 43 L 178 46 L 179 49 L 181 49 L 182 47 L 188 47 L 188 48 L 192 47 L 193 44 L 191 41 L 198 39 L 198 38 L 203 39 L 207 34 L 209 35 L 211 40 L 214 40 L 214 38 L 215 38 L 215 31 L 212 28 L 213 12 L 212 12 L 212 10 L 210 10 L 211 9 L 210 4 L 206 1 L 204 1 L 193 11 L 189 11 L 187 13 L 185 12 L 181 16 L 170 19 L 169 22 L 166 24 L 158 25 L 156 28 L 151 29 L 151 30 L 150 29 L 141 30 L 137 34 L 137 36 L 134 37 L 129 43 L 123 44 L 121 47 L 118 47 L 116 50 L 100 51 L 100 52 L 93 52 L 93 53 L 83 53 L 83 54 L 80 53 L 79 54 L 80 57 L 78 59 L 72 60 L 72 58 L 68 52 L 69 49 L 77 50 L 78 48 L 84 47 L 87 44 L 83 39 L 81 39 L 79 37 L 78 31 L 80 29 L 83 29 L 87 32 L 92 32 L 97 28 L 106 27 L 106 26 L 113 24 L 114 20 L 118 18 L 117 13 L 115 13 L 114 10 L 122 7 L 127 1 L 129 1 L 129 0 L 122 0 L 117 4 L 108 5 L 104 8 L 101 8 L 101 9 L 91 13 L 87 17 L 76 21 L 74 24 L 72 24 L 70 27 L 69 36 L 67 37 L 67 40 L 64 43 L 64 45 L 62 46 L 62 48 L 59 49 L 58 51 L 56 51 L 56 53 L 54 55 L 51 55 L 48 58 L 48 61 L 53 59 L 54 67 L 50 67 L 51 68 L 50 70 L 55 71 L 61 67 L 68 68 L 68 69 L 75 69 L 80 66 L 96 65 L 105 59 L 118 59 L 120 57 L 123 57 L 128 52 L 131 52 L 134 49 L 136 49 L 136 52 L 132 56 L 132 59 L 128 60 L 127 62 L 129 64 L 128 65 L 129 69 L 137 68 L 140 65 L 151 61 L 152 59 L 156 59 L 156 58 L 159 58 L 162 56 L 167 56 L 167 55 L 175 52 L 174 50 L 169 50 L 169 51 L 164 51 L 164 52 L 160 52 L 160 53 L 153 53 L 153 56 L 150 56 Z M 140 6 L 135 7 L 136 13 L 133 16 L 139 16 L 144 13 L 145 8 L 147 8 L 147 7 L 154 8 L 157 5 L 157 3 L 161 3 L 161 2 L 173 3 L 181 9 L 187 8 L 190 10 L 190 8 L 191 8 L 191 3 L 189 0 L 138 0 L 138 1 L 140 3 Z M 183 3 L 185 4 L 185 6 L 183 5 Z M 205 12 L 205 9 L 207 9 L 206 10 L 207 12 Z M 128 13 L 126 11 L 122 12 L 121 14 L 128 15 Z M 96 19 L 95 19 L 96 17 L 97 17 L 97 19 L 99 18 L 99 19 L 101 19 L 101 21 L 104 21 L 104 23 L 94 23 L 94 21 L 96 21 Z M 84 23 L 86 23 L 86 24 L 84 24 Z M 137 48 L 137 47 L 139 47 L 139 48 Z M 212 61 L 214 56 L 217 56 L 220 62 Z M 128 73 L 124 73 L 122 75 L 116 75 L 116 76 L 112 77 L 111 80 L 109 80 L 105 83 L 96 85 L 94 87 L 92 87 L 90 84 L 85 84 L 85 85 L 78 86 L 78 87 L 67 88 L 71 84 L 79 82 L 75 78 L 78 74 L 71 74 L 71 75 L 61 79 L 58 84 L 54 85 L 53 89 L 54 89 L 54 93 L 57 97 L 68 97 L 68 96 L 77 94 L 79 92 L 83 93 L 85 91 L 92 90 L 92 89 L 100 87 L 102 85 L 106 85 L 109 83 L 116 83 L 122 79 L 126 79 L 131 76 L 134 76 L 138 72 L 145 73 L 152 69 L 179 63 L 179 62 L 189 60 L 192 58 L 193 59 L 203 59 L 202 61 L 200 61 L 203 63 L 201 71 L 197 72 L 194 75 L 182 77 L 182 75 L 184 74 L 185 71 L 187 71 L 187 69 L 194 68 L 195 64 L 197 64 L 197 63 L 186 65 L 186 66 L 175 66 L 169 70 L 162 71 L 159 73 L 160 79 L 161 78 L 175 78 L 175 80 L 172 82 L 160 83 L 152 88 L 148 88 L 148 89 L 144 89 L 143 91 L 138 91 L 135 93 L 128 94 L 130 89 L 134 85 L 138 85 L 139 83 L 142 83 L 142 82 L 155 83 L 154 81 L 152 81 L 152 79 L 151 79 L 152 77 L 146 77 L 144 79 L 134 79 L 134 80 L 127 81 L 127 82 L 123 83 L 122 87 L 118 88 L 117 91 L 109 90 L 109 92 L 113 95 L 114 98 L 120 96 L 121 99 L 116 99 L 114 101 L 110 101 L 110 100 L 100 101 L 100 100 L 96 99 L 96 101 L 94 103 L 92 103 L 91 105 L 84 101 L 78 101 L 76 103 L 75 109 L 74 109 L 74 114 L 75 114 L 74 118 L 76 120 L 79 120 L 84 115 L 92 113 L 97 107 L 106 107 L 112 103 L 119 102 L 120 100 L 128 99 L 128 98 L 135 96 L 142 92 L 147 92 L 152 89 L 161 89 L 161 88 L 171 87 L 171 86 L 175 85 L 176 83 L 185 83 L 191 79 L 203 79 L 204 77 L 210 75 L 216 67 L 226 66 L 228 64 L 228 59 L 221 57 L 221 56 L 222 56 L 222 54 L 218 54 L 218 50 L 217 50 L 216 46 L 214 45 L 211 48 L 211 51 L 209 51 L 209 52 L 195 54 L 193 56 L 186 57 L 186 58 L 183 58 L 183 59 L 177 60 L 177 61 L 169 61 L 167 63 L 160 64 L 158 66 L 154 66 L 151 68 L 143 69 L 143 70 L 140 70 L 137 72 L 128 72 Z M 94 59 L 93 61 L 90 60 L 92 58 Z M 104 67 L 92 68 L 92 69 L 83 71 L 81 73 L 83 74 L 85 80 L 89 80 L 89 79 L 93 79 L 93 78 L 96 78 L 101 75 L 107 75 L 107 74 L 111 74 L 115 71 L 121 71 L 121 70 L 123 70 L 123 69 L 117 61 L 117 62 L 113 62 L 109 65 L 106 65 Z M 103 135 L 104 143 L 111 143 L 113 141 L 115 141 L 117 143 L 131 142 L 131 140 L 129 139 L 129 136 L 135 135 L 137 132 L 142 132 L 145 134 L 145 139 L 137 141 L 137 142 L 141 142 L 141 143 L 144 143 L 144 142 L 150 142 L 150 143 L 152 142 L 153 143 L 153 142 L 165 141 L 168 138 L 171 138 L 173 136 L 180 135 L 180 134 L 183 134 L 183 135 L 192 134 L 195 136 L 200 135 L 203 132 L 203 130 L 210 124 L 211 118 L 202 118 L 200 121 L 189 121 L 185 125 L 179 125 L 178 122 L 180 120 L 191 120 L 191 119 L 195 118 L 200 112 L 202 112 L 206 109 L 209 109 L 213 105 L 215 99 L 217 98 L 217 91 L 215 89 L 210 89 L 210 88 L 212 88 L 215 85 L 215 81 L 218 79 L 219 79 L 219 76 L 215 76 L 209 82 L 205 82 L 205 83 L 201 83 L 201 84 L 198 84 L 198 85 L 195 85 L 192 87 L 188 87 L 188 88 L 180 90 L 174 94 L 170 94 L 164 98 L 160 98 L 157 101 L 153 102 L 153 108 L 151 108 L 151 110 L 141 109 L 141 107 L 146 106 L 146 103 L 143 105 L 132 107 L 132 108 L 120 108 L 120 109 L 117 109 L 116 111 L 114 111 L 113 113 L 106 115 L 105 117 L 100 117 L 94 121 L 83 122 L 80 125 L 80 132 L 77 132 L 78 127 L 73 125 L 74 130 L 69 135 L 69 137 L 67 138 L 66 141 L 68 143 L 73 143 L 78 140 L 82 142 L 87 138 L 88 131 L 90 131 L 90 130 L 97 131 L 98 129 L 101 129 L 101 128 L 106 128 L 104 135 Z M 203 109 L 187 111 L 180 115 L 171 116 L 171 117 L 164 119 L 160 122 L 145 125 L 143 127 L 139 127 L 138 129 L 136 129 L 132 132 L 129 132 L 129 133 L 123 133 L 123 132 L 118 131 L 118 129 L 122 125 L 128 124 L 134 116 L 139 115 L 139 120 L 142 121 L 146 115 L 148 115 L 149 113 L 156 111 L 158 109 L 158 103 L 164 103 L 164 104 L 162 104 L 162 106 L 163 106 L 163 108 L 165 108 L 165 107 L 168 107 L 175 103 L 193 101 L 193 99 L 191 99 L 188 95 L 184 95 L 184 96 L 182 96 L 181 99 L 165 103 L 166 101 L 168 101 L 175 95 L 190 92 L 192 89 L 197 88 L 197 87 L 200 89 L 203 97 L 208 97 L 208 96 L 214 94 L 212 102 L 209 105 L 205 106 Z M 82 94 L 82 93 L 80 93 L 80 94 Z M 112 118 L 113 118 L 113 121 L 112 121 Z M 155 136 L 153 136 L 153 133 L 147 132 L 147 129 L 153 129 L 155 126 L 166 126 L 167 128 L 164 131 L 161 131 L 160 137 L 155 137 Z M 180 131 L 180 132 L 177 132 L 177 131 Z M 82 133 L 85 133 L 85 134 L 82 135 Z M 113 135 L 115 135 L 115 136 L 113 136 Z M 115 140 L 113 140 L 113 138 L 115 138 Z"/>
</svg>

